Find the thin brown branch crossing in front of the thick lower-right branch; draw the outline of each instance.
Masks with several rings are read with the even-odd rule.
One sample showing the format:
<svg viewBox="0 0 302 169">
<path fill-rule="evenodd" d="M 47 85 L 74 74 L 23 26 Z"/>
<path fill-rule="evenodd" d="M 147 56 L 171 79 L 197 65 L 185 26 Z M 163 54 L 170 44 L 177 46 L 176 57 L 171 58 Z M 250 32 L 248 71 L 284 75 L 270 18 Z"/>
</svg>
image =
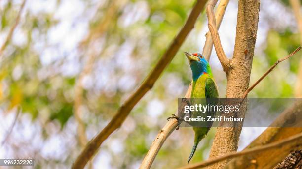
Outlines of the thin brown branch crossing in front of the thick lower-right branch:
<svg viewBox="0 0 302 169">
<path fill-rule="evenodd" d="M 301 141 L 298 141 L 298 140 L 301 140 Z M 298 147 L 298 146 L 302 145 L 302 133 L 299 133 L 297 135 L 294 135 L 292 137 L 289 137 L 289 138 L 281 140 L 281 141 L 273 142 L 273 143 L 266 144 L 266 145 L 259 146 L 259 147 L 255 147 L 255 148 L 246 149 L 246 150 L 243 150 L 243 151 L 240 151 L 240 152 L 229 153 L 227 155 L 224 155 L 224 156 L 212 159 L 212 160 L 207 160 L 207 161 L 204 161 L 204 162 L 196 163 L 196 164 L 189 165 L 189 166 L 179 168 L 179 169 L 202 168 L 202 167 L 206 167 L 206 166 L 209 166 L 211 164 L 214 164 L 214 163 L 217 163 L 219 161 L 223 161 L 223 160 L 226 160 L 226 159 L 229 159 L 229 158 L 234 158 L 234 157 L 243 156 L 243 155 L 247 155 L 247 154 L 254 154 L 254 153 L 269 150 L 269 149 L 272 149 L 272 148 L 281 148 L 283 145 L 290 144 L 294 141 L 297 141 L 299 143 L 298 143 L 298 145 L 293 145 L 293 146 Z"/>
</svg>

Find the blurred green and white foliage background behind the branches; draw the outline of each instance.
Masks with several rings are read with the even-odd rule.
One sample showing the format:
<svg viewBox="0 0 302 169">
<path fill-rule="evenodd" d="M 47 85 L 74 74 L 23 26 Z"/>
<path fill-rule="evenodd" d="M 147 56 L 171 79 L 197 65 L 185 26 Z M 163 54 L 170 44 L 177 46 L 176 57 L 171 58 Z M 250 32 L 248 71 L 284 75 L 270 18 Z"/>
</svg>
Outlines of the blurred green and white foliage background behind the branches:
<svg viewBox="0 0 302 169">
<path fill-rule="evenodd" d="M 35 126 L 38 123 L 39 127 L 34 127 L 37 133 L 35 138 L 42 138 L 44 142 L 13 142 L 20 147 L 24 146 L 25 141 L 32 143 L 29 147 L 35 147 L 32 154 L 38 161 L 37 168 L 44 165 L 67 168 L 81 150 L 76 137 L 74 99 L 78 75 L 88 56 L 95 55 L 96 59 L 92 71 L 83 81 L 81 110 L 87 136 L 91 139 L 148 75 L 184 25 L 195 1 L 125 0 L 123 3 L 123 0 L 118 0 L 109 28 L 101 35 L 95 34 L 83 48 L 79 44 L 90 31 L 100 26 L 113 1 L 38 2 L 42 5 L 30 7 L 35 2 L 28 2 L 15 35 L 1 56 L 0 108 L 2 112 L 9 112 L 20 105 L 24 116 L 31 117 L 31 124 Z M 236 3 L 236 0 L 230 2 L 232 8 L 227 9 L 228 16 L 236 14 Z M 1 3 L 2 36 L 6 37 L 19 7 L 20 2 L 15 0 Z M 76 8 L 76 11 L 70 12 L 72 8 Z M 206 24 L 202 15 L 152 90 L 135 106 L 123 126 L 104 142 L 100 156 L 95 157 L 96 162 L 101 161 L 102 165 L 108 163 L 113 168 L 137 168 L 141 163 L 167 117 L 175 113 L 177 98 L 183 97 L 187 90 L 191 72 L 183 51 L 201 51 L 198 37 L 203 38 L 199 32 Z M 223 22 L 221 29 L 227 24 Z M 254 56 L 251 84 L 277 59 L 299 46 L 299 36 L 293 28 L 276 29 L 271 26 L 266 29 L 265 41 L 256 49 Z M 293 97 L 299 60 L 299 57 L 292 57 L 278 65 L 250 96 Z M 212 69 L 216 82 L 221 86 L 219 90 L 225 91 L 226 77 L 220 65 L 212 65 Z M 221 97 L 224 95 L 220 92 Z M 199 145 L 193 162 L 207 158 L 214 132 L 215 129 L 211 129 Z M 59 148 L 53 148 L 56 153 L 45 153 L 43 148 L 53 138 L 55 143 L 50 145 L 60 143 Z M 192 143 L 191 129 L 174 132 L 160 150 L 153 168 L 185 165 Z M 14 152 L 17 154 L 17 151 Z M 109 154 L 108 161 L 102 161 L 102 153 Z"/>
</svg>

